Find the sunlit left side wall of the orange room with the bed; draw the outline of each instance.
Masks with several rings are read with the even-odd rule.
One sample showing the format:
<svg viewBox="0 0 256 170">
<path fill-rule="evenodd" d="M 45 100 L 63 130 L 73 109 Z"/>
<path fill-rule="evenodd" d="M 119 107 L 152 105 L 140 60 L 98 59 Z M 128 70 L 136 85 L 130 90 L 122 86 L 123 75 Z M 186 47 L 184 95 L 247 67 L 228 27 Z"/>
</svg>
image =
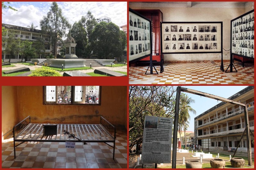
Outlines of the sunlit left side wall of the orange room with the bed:
<svg viewBox="0 0 256 170">
<path fill-rule="evenodd" d="M 2 86 L 2 136 L 12 133 L 18 122 L 17 86 Z"/>
</svg>

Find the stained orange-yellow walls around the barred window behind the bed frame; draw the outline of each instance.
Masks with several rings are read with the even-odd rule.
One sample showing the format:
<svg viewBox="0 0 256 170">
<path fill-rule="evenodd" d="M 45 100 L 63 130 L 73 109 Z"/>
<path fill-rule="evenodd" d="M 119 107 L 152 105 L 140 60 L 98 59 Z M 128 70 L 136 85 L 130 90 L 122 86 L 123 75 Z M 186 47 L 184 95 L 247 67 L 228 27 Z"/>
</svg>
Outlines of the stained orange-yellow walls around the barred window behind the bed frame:
<svg viewBox="0 0 256 170">
<path fill-rule="evenodd" d="M 8 89 L 14 89 L 14 92 L 10 93 Z M 18 112 L 19 121 L 30 115 L 32 123 L 99 124 L 100 116 L 103 116 L 113 125 L 127 129 L 127 86 L 102 86 L 101 90 L 100 106 L 65 106 L 43 105 L 43 86 L 17 86 L 17 90 L 15 86 L 4 86 L 2 104 L 9 103 L 5 101 L 9 98 L 12 99 L 10 103 L 15 103 L 15 107 L 9 104 L 9 109 L 13 110 L 12 115 L 6 116 L 9 119 Z M 2 116 L 7 113 L 8 110 L 2 107 Z M 10 130 L 14 126 L 10 124 L 3 120 L 2 129 Z"/>
</svg>

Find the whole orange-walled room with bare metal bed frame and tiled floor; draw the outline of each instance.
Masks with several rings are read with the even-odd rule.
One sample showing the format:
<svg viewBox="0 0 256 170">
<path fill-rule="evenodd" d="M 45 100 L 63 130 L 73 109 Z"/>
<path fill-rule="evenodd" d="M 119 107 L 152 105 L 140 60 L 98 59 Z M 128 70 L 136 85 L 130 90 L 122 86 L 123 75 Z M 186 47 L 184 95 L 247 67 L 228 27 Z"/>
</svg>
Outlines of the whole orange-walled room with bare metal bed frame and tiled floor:
<svg viewBox="0 0 256 170">
<path fill-rule="evenodd" d="M 127 86 L 2 86 L 2 168 L 127 168 Z"/>
</svg>

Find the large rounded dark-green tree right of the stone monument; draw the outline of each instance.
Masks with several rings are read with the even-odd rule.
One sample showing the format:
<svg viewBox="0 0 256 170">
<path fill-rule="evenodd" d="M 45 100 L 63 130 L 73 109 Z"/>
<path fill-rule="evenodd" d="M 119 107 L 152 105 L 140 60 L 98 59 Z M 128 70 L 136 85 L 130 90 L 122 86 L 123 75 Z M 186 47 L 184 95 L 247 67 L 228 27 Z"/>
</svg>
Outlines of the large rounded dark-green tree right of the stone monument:
<svg viewBox="0 0 256 170">
<path fill-rule="evenodd" d="M 121 39 L 119 27 L 110 22 L 100 22 L 97 24 L 92 33 L 92 49 L 93 54 L 101 59 L 110 59 L 121 55 L 121 47 L 119 41 L 125 44 L 125 40 Z"/>
</svg>

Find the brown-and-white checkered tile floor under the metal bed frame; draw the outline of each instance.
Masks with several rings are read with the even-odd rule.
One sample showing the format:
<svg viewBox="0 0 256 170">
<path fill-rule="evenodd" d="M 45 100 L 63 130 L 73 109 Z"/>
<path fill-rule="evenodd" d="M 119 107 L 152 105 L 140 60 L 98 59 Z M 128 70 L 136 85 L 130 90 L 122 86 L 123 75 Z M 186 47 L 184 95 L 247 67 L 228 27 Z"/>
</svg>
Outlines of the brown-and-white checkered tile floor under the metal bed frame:
<svg viewBox="0 0 256 170">
<path fill-rule="evenodd" d="M 20 144 L 14 159 L 13 141 L 2 141 L 2 168 L 127 168 L 126 134 L 117 130 L 115 160 L 113 148 L 104 143 L 76 143 L 76 149 L 70 149 L 64 142 Z"/>
</svg>

